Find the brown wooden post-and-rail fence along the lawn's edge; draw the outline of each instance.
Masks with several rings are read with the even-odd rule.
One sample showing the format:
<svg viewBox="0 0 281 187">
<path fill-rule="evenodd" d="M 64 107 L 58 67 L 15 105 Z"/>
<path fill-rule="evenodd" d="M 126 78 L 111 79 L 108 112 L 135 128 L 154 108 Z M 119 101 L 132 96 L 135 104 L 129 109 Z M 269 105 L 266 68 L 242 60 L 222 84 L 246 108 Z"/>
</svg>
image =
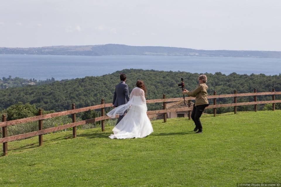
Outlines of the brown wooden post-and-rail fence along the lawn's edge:
<svg viewBox="0 0 281 187">
<path fill-rule="evenodd" d="M 214 92 L 213 95 L 208 96 L 208 99 L 213 99 L 214 105 L 209 105 L 206 107 L 206 109 L 213 108 L 214 111 L 214 116 L 216 116 L 217 113 L 217 108 L 222 108 L 222 107 L 234 107 L 234 113 L 237 112 L 237 106 L 244 106 L 244 105 L 255 105 L 255 111 L 257 111 L 257 105 L 258 104 L 267 104 L 267 103 L 272 103 L 272 109 L 275 110 L 275 103 L 281 103 L 281 100 L 275 100 L 275 95 L 280 95 L 281 91 L 275 92 L 273 89 L 272 92 L 259 92 L 257 93 L 256 89 L 254 90 L 254 93 L 237 93 L 236 90 L 234 90 L 234 94 L 225 94 L 225 95 L 217 95 L 216 92 Z M 257 96 L 264 96 L 264 95 L 272 95 L 272 100 L 271 101 L 257 101 Z M 245 103 L 237 103 L 237 97 L 241 96 L 254 96 L 254 102 L 245 102 Z M 234 103 L 229 103 L 229 104 L 219 104 L 217 105 L 217 98 L 228 98 L 228 97 L 233 97 L 234 98 Z M 189 111 L 189 119 L 190 119 L 190 111 L 193 109 L 190 105 L 191 100 L 195 100 L 194 97 L 186 97 L 186 100 L 188 101 L 188 107 L 186 108 L 177 108 L 177 109 L 166 109 L 166 103 L 167 102 L 174 102 L 174 101 L 183 101 L 183 98 L 165 98 L 165 95 L 163 95 L 163 99 L 153 99 L 153 100 L 147 100 L 146 103 L 162 103 L 163 102 L 163 110 L 153 110 L 153 111 L 147 111 L 147 114 L 160 114 L 163 113 L 164 115 L 164 122 L 167 121 L 166 113 L 167 112 L 180 112 L 180 111 Z M 100 105 L 95 105 L 95 106 L 89 106 L 85 108 L 75 108 L 75 104 L 72 104 L 72 109 L 71 110 L 66 110 L 62 112 L 55 112 L 51 114 L 45 114 L 42 115 L 42 109 L 39 110 L 38 115 L 34 117 L 28 117 L 28 118 L 23 118 L 23 119 L 18 119 L 18 120 L 11 120 L 11 121 L 6 121 L 6 116 L 2 116 L 2 122 L 0 122 L 0 127 L 2 127 L 2 132 L 3 132 L 3 138 L 0 138 L 0 143 L 3 143 L 3 153 L 4 155 L 7 155 L 8 151 L 8 142 L 14 141 L 14 140 L 19 140 L 23 138 L 28 138 L 32 136 L 39 136 L 39 146 L 42 146 L 43 143 L 43 134 L 47 134 L 50 132 L 55 132 L 67 128 L 73 129 L 73 138 L 76 137 L 76 127 L 80 125 L 85 125 L 88 123 L 93 123 L 97 121 L 101 121 L 101 128 L 102 131 L 104 131 L 104 120 L 110 119 L 108 116 L 106 116 L 104 109 L 107 107 L 112 107 L 112 103 L 104 103 L 104 99 L 101 100 Z M 85 112 L 89 110 L 96 110 L 96 109 L 101 109 L 101 116 L 96 117 L 93 119 L 89 120 L 83 120 L 80 122 L 76 122 L 76 113 L 79 112 Z M 58 116 L 64 116 L 64 115 L 72 115 L 72 123 L 66 124 L 66 125 L 61 125 L 59 127 L 52 127 L 49 129 L 43 129 L 43 120 L 52 118 L 52 117 L 58 117 Z M 117 116 L 116 116 L 117 117 Z M 8 136 L 7 133 L 7 127 L 10 125 L 16 125 L 20 123 L 26 123 L 26 122 L 35 122 L 38 121 L 38 131 L 34 132 L 29 132 L 25 134 L 19 134 L 15 136 Z"/>
</svg>

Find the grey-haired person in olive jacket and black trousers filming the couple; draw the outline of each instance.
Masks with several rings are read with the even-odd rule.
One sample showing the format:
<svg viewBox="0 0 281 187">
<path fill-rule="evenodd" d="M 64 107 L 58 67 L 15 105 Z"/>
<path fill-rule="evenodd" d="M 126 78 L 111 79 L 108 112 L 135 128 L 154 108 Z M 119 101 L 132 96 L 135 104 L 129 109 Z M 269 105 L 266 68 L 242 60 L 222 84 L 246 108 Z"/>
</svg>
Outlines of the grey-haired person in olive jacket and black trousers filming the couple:
<svg viewBox="0 0 281 187">
<path fill-rule="evenodd" d="M 205 107 L 209 106 L 208 102 L 208 86 L 206 85 L 207 82 L 207 76 L 206 75 L 200 75 L 199 76 L 199 85 L 197 88 L 193 91 L 188 91 L 184 89 L 182 92 L 183 94 L 188 94 L 191 97 L 196 97 L 195 98 L 195 103 L 193 105 L 193 110 L 191 113 L 191 118 L 194 121 L 196 127 L 194 128 L 193 131 L 197 131 L 196 133 L 202 133 L 202 124 L 200 121 L 200 117 L 205 109 Z"/>
</svg>

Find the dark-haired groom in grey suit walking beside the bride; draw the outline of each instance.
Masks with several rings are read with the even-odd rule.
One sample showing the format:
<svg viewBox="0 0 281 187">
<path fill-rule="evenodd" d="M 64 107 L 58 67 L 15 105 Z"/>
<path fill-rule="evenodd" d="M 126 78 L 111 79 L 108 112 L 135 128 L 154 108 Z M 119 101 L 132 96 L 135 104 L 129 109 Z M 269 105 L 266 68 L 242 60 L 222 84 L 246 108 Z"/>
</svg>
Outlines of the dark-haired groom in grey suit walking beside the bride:
<svg viewBox="0 0 281 187">
<path fill-rule="evenodd" d="M 120 105 L 124 105 L 128 103 L 128 101 L 130 100 L 129 88 L 128 85 L 125 84 L 126 79 L 127 79 L 126 75 L 122 73 L 120 75 L 121 82 L 116 85 L 114 91 L 113 102 L 112 102 L 114 108 Z M 116 125 L 122 120 L 123 117 L 124 115 L 119 115 Z"/>
</svg>

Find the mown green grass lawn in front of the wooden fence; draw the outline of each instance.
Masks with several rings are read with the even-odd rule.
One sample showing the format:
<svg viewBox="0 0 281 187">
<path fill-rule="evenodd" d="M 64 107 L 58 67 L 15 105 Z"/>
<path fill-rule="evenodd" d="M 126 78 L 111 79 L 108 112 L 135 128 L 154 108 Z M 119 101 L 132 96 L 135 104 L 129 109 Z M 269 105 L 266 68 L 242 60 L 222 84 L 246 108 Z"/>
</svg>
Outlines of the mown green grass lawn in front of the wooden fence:
<svg viewBox="0 0 281 187">
<path fill-rule="evenodd" d="M 146 138 L 112 140 L 112 127 L 8 143 L 0 186 L 236 186 L 281 182 L 281 110 L 153 121 Z M 2 149 L 2 148 L 1 148 Z"/>
</svg>

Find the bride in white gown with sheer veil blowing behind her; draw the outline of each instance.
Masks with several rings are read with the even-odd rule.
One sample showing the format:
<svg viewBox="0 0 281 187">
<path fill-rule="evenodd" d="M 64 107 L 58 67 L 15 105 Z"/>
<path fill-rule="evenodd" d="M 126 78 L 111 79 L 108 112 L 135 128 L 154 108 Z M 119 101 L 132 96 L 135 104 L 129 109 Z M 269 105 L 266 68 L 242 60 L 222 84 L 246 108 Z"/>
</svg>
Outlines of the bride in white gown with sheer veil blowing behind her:
<svg viewBox="0 0 281 187">
<path fill-rule="evenodd" d="M 111 134 L 109 138 L 144 138 L 153 132 L 151 122 L 146 115 L 145 96 L 145 85 L 143 81 L 138 80 L 136 87 L 131 92 L 130 101 L 106 114 L 111 118 L 115 118 L 115 115 L 123 115 L 128 110 L 123 119 L 112 129 L 114 134 Z"/>
</svg>

